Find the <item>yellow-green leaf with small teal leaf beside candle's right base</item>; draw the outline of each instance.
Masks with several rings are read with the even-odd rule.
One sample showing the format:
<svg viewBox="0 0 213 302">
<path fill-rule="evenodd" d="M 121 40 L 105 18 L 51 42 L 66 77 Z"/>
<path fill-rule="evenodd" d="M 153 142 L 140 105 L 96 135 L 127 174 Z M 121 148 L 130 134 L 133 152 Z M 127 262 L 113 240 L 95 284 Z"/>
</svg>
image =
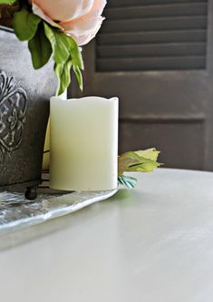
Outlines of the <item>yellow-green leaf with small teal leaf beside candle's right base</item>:
<svg viewBox="0 0 213 302">
<path fill-rule="evenodd" d="M 151 172 L 155 168 L 160 167 L 158 162 L 160 151 L 155 148 L 140 151 L 128 151 L 119 156 L 119 182 L 127 189 L 135 187 L 137 180 L 129 176 L 123 175 L 124 172 Z"/>
</svg>

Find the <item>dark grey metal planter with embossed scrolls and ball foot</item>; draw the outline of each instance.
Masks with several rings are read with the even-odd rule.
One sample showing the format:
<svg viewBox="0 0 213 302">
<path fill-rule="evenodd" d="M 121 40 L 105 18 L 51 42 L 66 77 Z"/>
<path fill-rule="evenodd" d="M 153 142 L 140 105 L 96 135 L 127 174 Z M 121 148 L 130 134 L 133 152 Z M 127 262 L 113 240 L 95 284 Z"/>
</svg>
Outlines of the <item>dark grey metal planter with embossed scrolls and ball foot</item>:
<svg viewBox="0 0 213 302">
<path fill-rule="evenodd" d="M 0 26 L 0 190 L 25 188 L 27 199 L 36 197 L 56 87 L 53 63 L 35 71 L 27 44 Z"/>
</svg>

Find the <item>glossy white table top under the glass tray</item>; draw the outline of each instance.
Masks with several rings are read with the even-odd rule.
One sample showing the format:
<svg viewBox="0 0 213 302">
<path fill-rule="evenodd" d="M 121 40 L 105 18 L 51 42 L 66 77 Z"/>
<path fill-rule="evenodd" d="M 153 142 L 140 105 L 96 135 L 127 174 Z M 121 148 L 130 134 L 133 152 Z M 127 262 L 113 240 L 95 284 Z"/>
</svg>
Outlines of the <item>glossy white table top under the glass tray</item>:
<svg viewBox="0 0 213 302">
<path fill-rule="evenodd" d="M 213 173 L 138 179 L 135 190 L 7 235 L 1 301 L 211 302 Z"/>
</svg>

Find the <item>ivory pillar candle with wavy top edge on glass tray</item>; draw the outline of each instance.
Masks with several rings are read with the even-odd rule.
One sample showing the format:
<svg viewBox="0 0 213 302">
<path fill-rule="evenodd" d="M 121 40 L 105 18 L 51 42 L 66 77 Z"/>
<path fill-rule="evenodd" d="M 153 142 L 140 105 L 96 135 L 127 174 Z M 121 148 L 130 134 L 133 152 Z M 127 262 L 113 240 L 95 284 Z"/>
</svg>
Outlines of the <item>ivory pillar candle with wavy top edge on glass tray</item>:
<svg viewBox="0 0 213 302">
<path fill-rule="evenodd" d="M 112 190 L 118 178 L 118 98 L 51 98 L 50 186 Z"/>
</svg>

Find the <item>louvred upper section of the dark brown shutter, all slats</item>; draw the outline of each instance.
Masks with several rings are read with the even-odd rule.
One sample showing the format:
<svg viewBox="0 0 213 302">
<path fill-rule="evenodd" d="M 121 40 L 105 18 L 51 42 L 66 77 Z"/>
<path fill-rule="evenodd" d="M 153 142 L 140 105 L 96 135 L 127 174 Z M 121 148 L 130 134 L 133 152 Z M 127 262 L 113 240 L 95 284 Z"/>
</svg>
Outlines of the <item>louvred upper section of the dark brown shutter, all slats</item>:
<svg viewBox="0 0 213 302">
<path fill-rule="evenodd" d="M 208 3 L 111 0 L 97 38 L 98 72 L 206 67 Z"/>
</svg>

